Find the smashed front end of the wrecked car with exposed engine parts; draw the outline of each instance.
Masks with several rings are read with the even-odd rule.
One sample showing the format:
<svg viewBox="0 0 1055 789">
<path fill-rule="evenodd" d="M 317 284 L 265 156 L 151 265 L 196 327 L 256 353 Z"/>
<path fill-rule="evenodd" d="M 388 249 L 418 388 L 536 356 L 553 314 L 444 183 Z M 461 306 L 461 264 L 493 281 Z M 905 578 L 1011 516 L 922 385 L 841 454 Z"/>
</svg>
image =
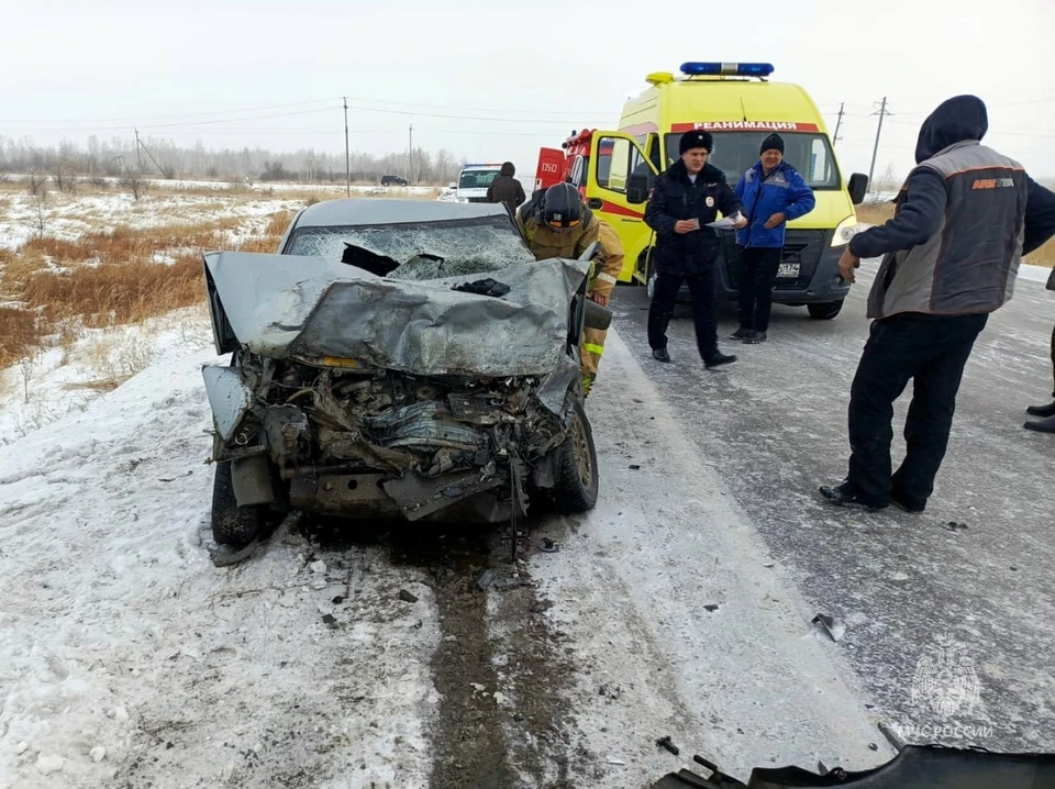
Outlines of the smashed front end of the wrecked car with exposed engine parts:
<svg viewBox="0 0 1055 789">
<path fill-rule="evenodd" d="M 202 375 L 240 505 L 498 523 L 525 514 L 526 484 L 552 485 L 576 371 L 420 377 L 244 354 Z"/>
</svg>

